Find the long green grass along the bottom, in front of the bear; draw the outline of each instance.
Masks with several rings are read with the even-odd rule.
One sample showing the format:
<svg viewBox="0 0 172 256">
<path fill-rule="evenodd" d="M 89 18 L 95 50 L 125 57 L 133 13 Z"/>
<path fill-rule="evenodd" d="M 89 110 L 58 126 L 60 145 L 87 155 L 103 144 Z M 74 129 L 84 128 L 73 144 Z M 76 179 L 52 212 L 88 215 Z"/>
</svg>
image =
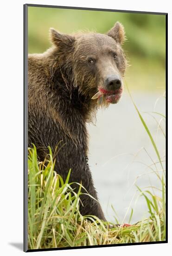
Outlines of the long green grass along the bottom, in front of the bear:
<svg viewBox="0 0 172 256">
<path fill-rule="evenodd" d="M 146 124 L 144 122 L 143 124 L 147 130 Z M 147 202 L 149 217 L 130 227 L 122 228 L 115 226 L 115 223 L 103 222 L 96 216 L 82 216 L 80 214 L 79 202 L 82 185 L 77 191 L 72 189 L 70 183 L 71 170 L 64 181 L 54 170 L 55 162 L 53 162 L 51 148 L 49 148 L 49 152 L 45 161 L 39 162 L 35 146 L 29 148 L 29 249 L 166 240 L 164 172 L 162 172 L 162 176 L 159 175 L 162 184 L 161 197 L 154 195 L 149 190 L 142 191 L 137 187 L 140 195 L 144 196 Z M 130 220 L 132 214 L 133 210 L 131 211 Z"/>
</svg>

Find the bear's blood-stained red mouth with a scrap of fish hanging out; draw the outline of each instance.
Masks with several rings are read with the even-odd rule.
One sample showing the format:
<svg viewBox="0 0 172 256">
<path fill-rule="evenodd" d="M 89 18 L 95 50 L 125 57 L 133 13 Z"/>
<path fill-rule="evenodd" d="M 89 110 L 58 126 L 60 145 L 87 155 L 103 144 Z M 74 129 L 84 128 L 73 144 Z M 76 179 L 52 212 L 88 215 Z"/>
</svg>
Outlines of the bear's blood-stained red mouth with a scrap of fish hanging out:
<svg viewBox="0 0 172 256">
<path fill-rule="evenodd" d="M 92 99 L 97 99 L 99 104 L 101 104 L 103 100 L 111 104 L 116 104 L 120 100 L 122 92 L 123 88 L 116 89 L 114 91 L 108 91 L 104 88 L 98 88 L 98 93 L 96 93 L 92 97 Z"/>
</svg>

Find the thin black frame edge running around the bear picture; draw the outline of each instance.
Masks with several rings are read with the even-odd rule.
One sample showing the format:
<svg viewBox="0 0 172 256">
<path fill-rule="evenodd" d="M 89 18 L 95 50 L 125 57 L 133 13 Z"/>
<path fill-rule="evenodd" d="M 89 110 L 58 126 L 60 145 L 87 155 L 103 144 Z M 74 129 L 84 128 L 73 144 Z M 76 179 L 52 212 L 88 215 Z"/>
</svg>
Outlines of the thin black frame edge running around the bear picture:
<svg viewBox="0 0 172 256">
<path fill-rule="evenodd" d="M 65 250 L 65 249 L 85 249 L 85 248 L 100 248 L 100 247 L 115 247 L 115 246 L 128 246 L 128 245 L 143 245 L 143 244 L 157 244 L 157 243 L 168 243 L 168 13 L 158 13 L 158 12 L 146 12 L 146 11 L 126 11 L 126 10 L 115 10 L 115 9 L 101 9 L 101 8 L 86 8 L 86 7 L 68 7 L 68 6 L 53 6 L 53 5 L 37 5 L 37 4 L 25 4 L 24 6 L 24 39 L 23 39 L 23 68 L 24 68 L 24 237 L 23 237 L 23 249 L 25 252 L 34 251 L 51 251 L 51 250 Z M 158 14 L 166 16 L 166 241 L 158 242 L 144 242 L 144 243 L 121 243 L 121 244 L 106 244 L 106 245 L 90 245 L 90 246 L 76 246 L 76 247 L 64 247 L 64 248 L 47 248 L 47 249 L 28 249 L 28 177 L 27 177 L 27 159 L 28 159 L 28 141 L 27 141 L 27 129 L 28 129 L 28 118 L 27 118 L 27 56 L 28 56 L 28 7 L 46 7 L 46 8 L 60 8 L 60 9 L 77 9 L 77 10 L 89 10 L 89 11 L 106 11 L 106 12 L 118 12 L 118 13 L 142 13 L 142 14 Z"/>
</svg>

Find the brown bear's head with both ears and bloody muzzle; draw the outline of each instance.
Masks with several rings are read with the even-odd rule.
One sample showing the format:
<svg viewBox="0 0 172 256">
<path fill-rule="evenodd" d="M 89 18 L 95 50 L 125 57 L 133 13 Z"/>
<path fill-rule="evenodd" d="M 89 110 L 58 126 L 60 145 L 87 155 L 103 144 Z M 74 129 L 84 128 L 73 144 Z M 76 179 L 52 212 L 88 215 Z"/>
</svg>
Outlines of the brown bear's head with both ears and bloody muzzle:
<svg viewBox="0 0 172 256">
<path fill-rule="evenodd" d="M 68 70 L 72 87 L 104 105 L 117 103 L 123 91 L 127 61 L 122 50 L 124 27 L 116 22 L 107 34 L 61 34 L 50 29 L 60 67 Z"/>
</svg>

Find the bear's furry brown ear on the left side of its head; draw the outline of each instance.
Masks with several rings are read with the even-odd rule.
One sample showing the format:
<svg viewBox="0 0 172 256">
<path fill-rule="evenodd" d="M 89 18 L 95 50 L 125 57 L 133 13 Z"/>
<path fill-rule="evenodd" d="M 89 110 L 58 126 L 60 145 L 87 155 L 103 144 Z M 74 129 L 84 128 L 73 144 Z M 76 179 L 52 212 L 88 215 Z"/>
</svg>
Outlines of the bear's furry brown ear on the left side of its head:
<svg viewBox="0 0 172 256">
<path fill-rule="evenodd" d="M 54 28 L 50 28 L 50 40 L 58 47 L 71 47 L 75 42 L 75 38 L 68 34 L 61 34 Z"/>
</svg>

